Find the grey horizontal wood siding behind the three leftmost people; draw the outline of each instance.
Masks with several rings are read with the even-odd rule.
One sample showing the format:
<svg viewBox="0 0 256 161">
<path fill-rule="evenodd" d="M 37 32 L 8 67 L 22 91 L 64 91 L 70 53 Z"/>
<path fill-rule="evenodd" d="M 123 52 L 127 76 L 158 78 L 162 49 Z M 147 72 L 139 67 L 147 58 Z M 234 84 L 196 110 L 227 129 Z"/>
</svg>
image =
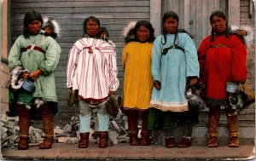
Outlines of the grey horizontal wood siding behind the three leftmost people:
<svg viewBox="0 0 256 161">
<path fill-rule="evenodd" d="M 90 15 L 101 21 L 110 31 L 110 39 L 116 44 L 119 89 L 117 95 L 122 95 L 123 68 L 121 55 L 124 45 L 122 30 L 132 20 L 149 20 L 149 0 L 11 0 L 11 40 L 22 34 L 23 19 L 26 11 L 36 10 L 43 16 L 55 19 L 61 26 L 61 38 L 57 41 L 61 45 L 62 53 L 59 65 L 55 71 L 55 81 L 59 100 L 57 122 L 67 123 L 70 116 L 78 114 L 78 107 L 67 106 L 68 89 L 66 85 L 66 66 L 69 50 L 83 35 L 84 19 Z"/>
</svg>

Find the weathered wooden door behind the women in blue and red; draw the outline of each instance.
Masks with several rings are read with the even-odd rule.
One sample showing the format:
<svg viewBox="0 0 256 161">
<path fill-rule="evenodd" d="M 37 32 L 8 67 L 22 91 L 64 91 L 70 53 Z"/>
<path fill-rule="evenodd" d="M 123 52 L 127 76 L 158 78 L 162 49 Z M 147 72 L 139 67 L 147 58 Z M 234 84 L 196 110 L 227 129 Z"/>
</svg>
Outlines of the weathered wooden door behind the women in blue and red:
<svg viewBox="0 0 256 161">
<path fill-rule="evenodd" d="M 212 11 L 225 13 L 226 3 L 226 0 L 164 0 L 161 17 L 166 11 L 175 11 L 179 18 L 178 27 L 189 32 L 199 47 L 201 40 L 211 32 L 209 17 Z"/>
</svg>

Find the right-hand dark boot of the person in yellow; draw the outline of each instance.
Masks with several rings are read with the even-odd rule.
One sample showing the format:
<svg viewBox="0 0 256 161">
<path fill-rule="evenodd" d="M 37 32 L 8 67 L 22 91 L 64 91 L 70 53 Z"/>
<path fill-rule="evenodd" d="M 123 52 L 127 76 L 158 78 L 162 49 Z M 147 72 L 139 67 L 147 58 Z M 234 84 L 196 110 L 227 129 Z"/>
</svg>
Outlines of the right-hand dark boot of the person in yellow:
<svg viewBox="0 0 256 161">
<path fill-rule="evenodd" d="M 140 145 L 141 146 L 148 146 L 149 143 L 150 143 L 149 131 L 147 129 L 147 126 L 148 126 L 148 110 L 144 111 L 142 114 L 143 114 L 143 116 L 142 116 L 142 132 L 141 132 L 142 139 L 140 141 Z"/>
</svg>

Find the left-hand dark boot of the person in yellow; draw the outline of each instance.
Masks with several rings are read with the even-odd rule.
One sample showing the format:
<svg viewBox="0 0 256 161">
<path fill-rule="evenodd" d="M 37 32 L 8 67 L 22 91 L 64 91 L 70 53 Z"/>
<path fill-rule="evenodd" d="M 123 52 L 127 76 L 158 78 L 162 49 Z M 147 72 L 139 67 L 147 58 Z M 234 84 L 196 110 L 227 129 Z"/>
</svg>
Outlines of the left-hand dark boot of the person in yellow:
<svg viewBox="0 0 256 161">
<path fill-rule="evenodd" d="M 140 141 L 137 138 L 138 128 L 137 128 L 137 119 L 138 112 L 137 111 L 129 111 L 127 110 L 127 118 L 128 118 L 128 135 L 130 136 L 130 145 L 138 146 Z"/>
</svg>

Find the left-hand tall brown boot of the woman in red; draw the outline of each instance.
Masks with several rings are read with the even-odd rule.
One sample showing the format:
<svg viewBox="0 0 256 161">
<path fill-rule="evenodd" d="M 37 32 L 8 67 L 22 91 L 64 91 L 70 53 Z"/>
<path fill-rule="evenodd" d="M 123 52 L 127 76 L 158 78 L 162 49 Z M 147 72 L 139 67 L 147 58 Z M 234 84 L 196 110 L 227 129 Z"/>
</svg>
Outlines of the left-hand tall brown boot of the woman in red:
<svg viewBox="0 0 256 161">
<path fill-rule="evenodd" d="M 219 107 L 210 107 L 209 109 L 207 147 L 218 147 L 218 122 L 220 112 Z"/>
</svg>

